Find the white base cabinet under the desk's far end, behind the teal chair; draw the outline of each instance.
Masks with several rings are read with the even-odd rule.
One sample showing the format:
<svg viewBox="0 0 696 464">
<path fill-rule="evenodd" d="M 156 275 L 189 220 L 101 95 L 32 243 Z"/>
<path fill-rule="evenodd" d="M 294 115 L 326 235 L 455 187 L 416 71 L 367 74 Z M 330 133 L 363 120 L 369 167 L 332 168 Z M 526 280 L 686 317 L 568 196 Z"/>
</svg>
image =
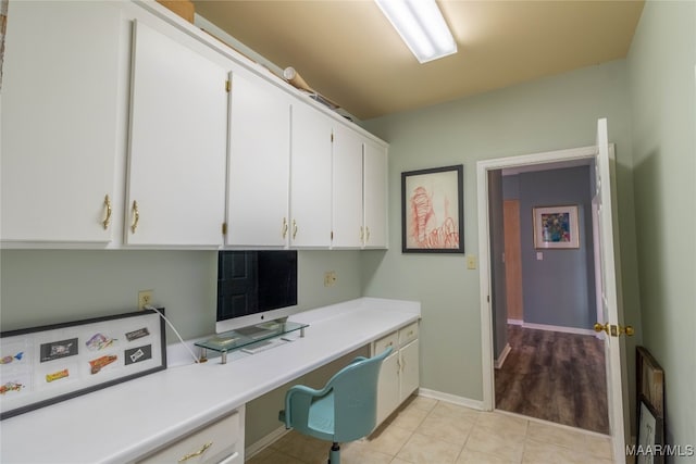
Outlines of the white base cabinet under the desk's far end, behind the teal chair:
<svg viewBox="0 0 696 464">
<path fill-rule="evenodd" d="M 377 425 L 420 386 L 419 323 L 414 322 L 372 343 L 372 355 L 391 347 L 382 363 L 377 384 Z"/>
</svg>

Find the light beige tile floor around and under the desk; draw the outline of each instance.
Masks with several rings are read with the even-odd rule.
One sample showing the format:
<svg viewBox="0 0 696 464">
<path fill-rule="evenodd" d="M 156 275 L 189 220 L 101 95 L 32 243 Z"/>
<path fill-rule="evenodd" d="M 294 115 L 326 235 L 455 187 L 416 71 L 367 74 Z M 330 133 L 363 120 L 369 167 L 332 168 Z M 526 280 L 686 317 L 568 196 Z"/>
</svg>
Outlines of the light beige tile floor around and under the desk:
<svg viewBox="0 0 696 464">
<path fill-rule="evenodd" d="M 290 431 L 247 462 L 321 464 L 330 447 Z M 412 397 L 369 438 L 341 444 L 343 464 L 612 462 L 607 436 L 424 397 Z"/>
</svg>

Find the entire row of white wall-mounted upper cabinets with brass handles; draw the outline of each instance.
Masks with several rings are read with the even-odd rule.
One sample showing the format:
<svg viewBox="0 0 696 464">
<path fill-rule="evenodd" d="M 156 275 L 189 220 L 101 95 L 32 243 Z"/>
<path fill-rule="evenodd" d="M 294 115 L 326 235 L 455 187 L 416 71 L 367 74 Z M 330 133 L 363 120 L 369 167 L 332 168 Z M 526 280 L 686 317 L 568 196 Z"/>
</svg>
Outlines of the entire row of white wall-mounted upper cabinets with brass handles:
<svg viewBox="0 0 696 464">
<path fill-rule="evenodd" d="M 170 20 L 9 2 L 0 248 L 386 247 L 386 145 Z"/>
</svg>

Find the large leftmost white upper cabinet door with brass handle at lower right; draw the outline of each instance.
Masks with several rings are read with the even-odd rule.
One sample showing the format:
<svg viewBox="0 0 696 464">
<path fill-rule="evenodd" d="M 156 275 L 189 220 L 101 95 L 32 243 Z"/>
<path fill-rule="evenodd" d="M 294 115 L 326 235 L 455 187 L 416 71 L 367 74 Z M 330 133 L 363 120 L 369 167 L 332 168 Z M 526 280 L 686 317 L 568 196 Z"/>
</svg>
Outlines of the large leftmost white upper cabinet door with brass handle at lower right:
<svg viewBox="0 0 696 464">
<path fill-rule="evenodd" d="M 107 2 L 9 4 L 0 237 L 109 242 L 121 11 Z M 114 203 L 115 208 L 115 203 Z"/>
</svg>

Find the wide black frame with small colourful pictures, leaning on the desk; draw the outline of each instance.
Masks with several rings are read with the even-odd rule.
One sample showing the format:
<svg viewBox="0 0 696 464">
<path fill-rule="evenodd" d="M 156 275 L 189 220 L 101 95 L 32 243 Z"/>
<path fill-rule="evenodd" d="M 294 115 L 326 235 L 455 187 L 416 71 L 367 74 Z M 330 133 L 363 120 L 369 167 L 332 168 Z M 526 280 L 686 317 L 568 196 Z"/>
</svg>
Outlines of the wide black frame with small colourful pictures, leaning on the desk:
<svg viewBox="0 0 696 464">
<path fill-rule="evenodd" d="M 0 421 L 164 371 L 158 311 L 0 333 Z"/>
</svg>

